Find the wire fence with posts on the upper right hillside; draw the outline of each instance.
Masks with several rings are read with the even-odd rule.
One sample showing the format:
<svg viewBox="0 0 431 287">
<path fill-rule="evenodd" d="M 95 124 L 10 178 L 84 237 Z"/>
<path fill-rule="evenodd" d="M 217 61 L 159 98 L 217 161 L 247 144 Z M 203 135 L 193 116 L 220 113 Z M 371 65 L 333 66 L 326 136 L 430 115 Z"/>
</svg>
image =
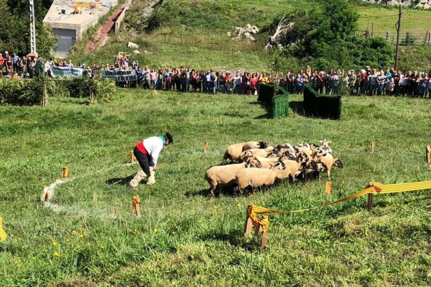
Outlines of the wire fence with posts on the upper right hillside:
<svg viewBox="0 0 431 287">
<path fill-rule="evenodd" d="M 392 45 L 397 44 L 397 32 L 373 32 L 370 30 L 357 30 L 355 31 L 355 34 L 359 37 L 381 37 Z M 400 45 L 431 45 L 431 32 L 401 32 Z"/>
</svg>

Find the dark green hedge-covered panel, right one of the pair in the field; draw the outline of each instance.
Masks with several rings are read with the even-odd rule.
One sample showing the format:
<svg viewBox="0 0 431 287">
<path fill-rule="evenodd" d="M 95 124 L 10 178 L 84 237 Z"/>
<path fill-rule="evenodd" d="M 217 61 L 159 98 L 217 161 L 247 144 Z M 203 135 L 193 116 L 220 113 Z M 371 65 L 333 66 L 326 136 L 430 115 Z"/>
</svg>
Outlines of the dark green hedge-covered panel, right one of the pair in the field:
<svg viewBox="0 0 431 287">
<path fill-rule="evenodd" d="M 341 96 L 314 91 L 310 84 L 304 89 L 304 110 L 307 114 L 332 120 L 341 119 Z"/>
</svg>

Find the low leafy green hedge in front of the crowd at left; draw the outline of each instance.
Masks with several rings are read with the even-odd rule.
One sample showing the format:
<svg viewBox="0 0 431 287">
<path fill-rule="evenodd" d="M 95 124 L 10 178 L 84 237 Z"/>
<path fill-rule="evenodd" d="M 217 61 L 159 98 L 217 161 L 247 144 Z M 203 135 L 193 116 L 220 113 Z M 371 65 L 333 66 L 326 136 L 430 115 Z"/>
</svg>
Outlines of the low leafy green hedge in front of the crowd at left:
<svg viewBox="0 0 431 287">
<path fill-rule="evenodd" d="M 49 79 L 46 77 L 31 80 L 1 79 L 1 105 L 41 105 L 44 93 L 47 97 L 66 96 L 111 102 L 116 97 L 115 82 L 109 79 Z"/>
</svg>

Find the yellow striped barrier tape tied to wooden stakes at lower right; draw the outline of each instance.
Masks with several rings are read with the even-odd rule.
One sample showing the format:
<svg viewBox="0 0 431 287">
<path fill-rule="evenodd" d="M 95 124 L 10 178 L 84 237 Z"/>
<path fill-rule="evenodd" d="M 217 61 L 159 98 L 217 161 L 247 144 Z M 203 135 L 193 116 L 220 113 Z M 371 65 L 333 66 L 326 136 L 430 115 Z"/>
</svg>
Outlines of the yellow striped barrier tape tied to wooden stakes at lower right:
<svg viewBox="0 0 431 287">
<path fill-rule="evenodd" d="M 304 212 L 311 209 L 316 209 L 320 207 L 326 207 L 330 205 L 334 205 L 346 200 L 350 200 L 356 197 L 360 197 L 369 193 L 372 194 L 384 194 L 384 193 L 396 193 L 396 192 L 405 192 L 405 191 L 418 191 L 423 189 L 431 189 L 431 181 L 428 182 L 417 182 L 417 183 L 407 183 L 407 184 L 393 184 L 393 185 L 383 185 L 380 183 L 371 182 L 364 190 L 360 192 L 356 192 L 352 195 L 349 195 L 347 197 L 341 198 L 339 200 L 310 207 L 305 209 L 298 209 L 298 210 L 273 210 L 268 209 L 262 206 L 255 206 L 253 203 L 248 205 L 247 213 L 250 219 L 252 219 L 253 225 L 257 226 L 258 223 L 260 223 L 262 227 L 262 232 L 265 232 L 268 229 L 269 221 L 259 219 L 257 217 L 257 214 L 277 214 L 277 213 L 296 213 L 296 212 Z"/>
</svg>

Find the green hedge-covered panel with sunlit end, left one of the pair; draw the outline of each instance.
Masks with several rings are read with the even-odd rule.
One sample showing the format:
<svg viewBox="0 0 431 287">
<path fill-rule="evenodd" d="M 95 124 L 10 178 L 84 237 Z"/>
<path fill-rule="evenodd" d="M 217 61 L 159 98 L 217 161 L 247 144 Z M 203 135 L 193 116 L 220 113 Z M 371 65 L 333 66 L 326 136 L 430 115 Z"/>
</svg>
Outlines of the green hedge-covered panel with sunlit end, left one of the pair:
<svg viewBox="0 0 431 287">
<path fill-rule="evenodd" d="M 272 85 L 259 85 L 258 101 L 262 102 L 271 118 L 289 116 L 289 93 Z"/>
</svg>

